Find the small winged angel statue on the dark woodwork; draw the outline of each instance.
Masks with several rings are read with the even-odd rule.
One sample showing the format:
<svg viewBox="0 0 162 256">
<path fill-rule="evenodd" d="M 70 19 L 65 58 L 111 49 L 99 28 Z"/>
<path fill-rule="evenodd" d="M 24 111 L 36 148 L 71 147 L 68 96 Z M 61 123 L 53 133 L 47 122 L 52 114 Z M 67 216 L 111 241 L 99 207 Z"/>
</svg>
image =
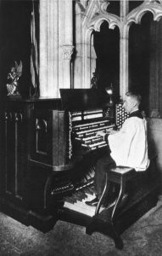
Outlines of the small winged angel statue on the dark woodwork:
<svg viewBox="0 0 162 256">
<path fill-rule="evenodd" d="M 20 65 L 18 65 L 17 61 L 14 61 L 14 65 L 10 67 L 6 84 L 8 96 L 20 96 L 18 80 L 22 75 L 22 67 L 22 61 L 20 61 Z"/>
</svg>

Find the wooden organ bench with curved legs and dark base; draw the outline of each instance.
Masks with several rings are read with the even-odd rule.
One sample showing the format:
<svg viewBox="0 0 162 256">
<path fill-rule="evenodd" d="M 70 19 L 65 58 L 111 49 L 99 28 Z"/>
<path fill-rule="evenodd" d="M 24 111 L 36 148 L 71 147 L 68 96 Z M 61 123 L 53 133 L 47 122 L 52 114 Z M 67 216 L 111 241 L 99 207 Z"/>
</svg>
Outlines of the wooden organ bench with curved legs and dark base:
<svg viewBox="0 0 162 256">
<path fill-rule="evenodd" d="M 157 185 L 158 179 L 157 181 L 154 180 L 154 182 L 152 180 L 151 172 L 155 171 L 152 170 L 152 163 L 154 161 L 155 158 L 151 160 L 150 166 L 145 172 L 146 175 L 144 178 L 146 178 L 146 180 L 142 180 L 141 183 L 137 175 L 138 172 L 131 167 L 116 166 L 112 167 L 109 172 L 106 173 L 103 194 L 96 207 L 95 215 L 92 217 L 92 222 L 87 226 L 87 234 L 91 235 L 94 231 L 101 231 L 103 234 L 114 239 L 115 247 L 118 249 L 123 248 L 123 241 L 120 234 L 138 218 L 142 217 L 144 213 L 148 212 L 151 207 L 156 205 L 158 199 L 157 189 L 159 186 Z M 104 194 L 108 189 L 109 182 L 119 184 L 120 191 L 115 204 L 100 212 L 99 210 L 103 202 Z M 131 190 L 130 188 L 126 190 L 127 184 L 129 184 Z M 128 198 L 126 204 L 123 206 L 122 198 L 125 192 L 128 193 Z"/>
</svg>

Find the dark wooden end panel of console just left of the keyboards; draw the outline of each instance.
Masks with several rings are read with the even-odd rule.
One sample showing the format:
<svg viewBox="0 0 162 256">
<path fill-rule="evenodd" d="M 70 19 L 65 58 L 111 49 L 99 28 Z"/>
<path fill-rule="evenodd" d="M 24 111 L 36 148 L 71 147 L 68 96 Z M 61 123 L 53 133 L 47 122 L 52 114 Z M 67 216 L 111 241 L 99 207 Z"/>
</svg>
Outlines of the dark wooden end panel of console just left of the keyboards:
<svg viewBox="0 0 162 256">
<path fill-rule="evenodd" d="M 64 111 L 32 111 L 31 161 L 52 166 L 54 170 L 64 168 L 70 159 L 68 120 Z"/>
</svg>

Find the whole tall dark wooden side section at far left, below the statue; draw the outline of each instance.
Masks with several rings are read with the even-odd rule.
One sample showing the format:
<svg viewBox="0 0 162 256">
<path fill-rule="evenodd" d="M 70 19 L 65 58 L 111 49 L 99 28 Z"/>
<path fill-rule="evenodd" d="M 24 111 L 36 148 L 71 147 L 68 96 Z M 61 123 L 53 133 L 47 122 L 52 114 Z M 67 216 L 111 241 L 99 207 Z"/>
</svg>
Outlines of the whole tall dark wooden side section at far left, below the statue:
<svg viewBox="0 0 162 256">
<path fill-rule="evenodd" d="M 24 204 L 29 158 L 29 119 L 32 103 L 5 102 L 1 109 L 1 195 Z"/>
</svg>

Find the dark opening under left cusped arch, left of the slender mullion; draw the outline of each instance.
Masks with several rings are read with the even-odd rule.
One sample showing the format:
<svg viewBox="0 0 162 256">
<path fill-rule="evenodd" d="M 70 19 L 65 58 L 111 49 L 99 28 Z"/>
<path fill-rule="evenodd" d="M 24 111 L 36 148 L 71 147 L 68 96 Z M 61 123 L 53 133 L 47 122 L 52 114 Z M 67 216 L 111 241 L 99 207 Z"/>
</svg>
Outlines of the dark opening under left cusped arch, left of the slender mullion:
<svg viewBox="0 0 162 256">
<path fill-rule="evenodd" d="M 113 84 L 115 96 L 120 95 L 120 31 L 117 26 L 109 29 L 103 21 L 100 32 L 93 32 L 94 49 L 97 55 L 96 69 L 99 74 L 98 88 Z"/>
</svg>

